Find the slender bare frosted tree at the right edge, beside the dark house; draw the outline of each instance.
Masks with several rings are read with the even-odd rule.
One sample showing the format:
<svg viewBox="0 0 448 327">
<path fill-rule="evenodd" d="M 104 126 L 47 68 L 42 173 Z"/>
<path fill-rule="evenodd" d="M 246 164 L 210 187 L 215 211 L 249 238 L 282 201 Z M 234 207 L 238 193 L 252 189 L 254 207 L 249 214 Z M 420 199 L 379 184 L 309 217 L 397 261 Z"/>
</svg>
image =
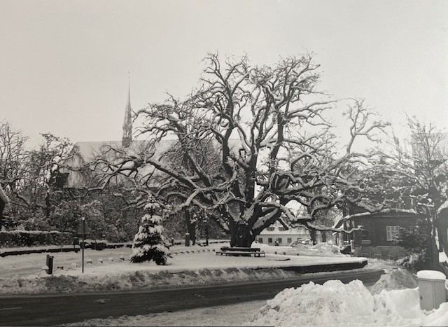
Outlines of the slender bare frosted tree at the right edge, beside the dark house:
<svg viewBox="0 0 448 327">
<path fill-rule="evenodd" d="M 432 123 L 408 117 L 407 125 L 409 139 L 402 142 L 393 137 L 392 151 L 381 153 L 381 169 L 385 176 L 393 176 L 393 190 L 412 199 L 414 208 L 424 217 L 424 221 L 419 222 L 419 235 L 424 236 L 426 230 L 430 237 L 415 239 L 416 246 L 412 247 L 409 239 L 417 232 L 414 229 L 414 232 L 401 233 L 399 242 L 408 244 L 408 249 L 428 253 L 429 260 L 423 256 L 428 269 L 445 269 L 448 273 L 447 267 L 439 264 L 439 252 L 446 253 L 446 249 L 438 242 L 440 213 L 448 208 L 447 139 Z"/>
</svg>

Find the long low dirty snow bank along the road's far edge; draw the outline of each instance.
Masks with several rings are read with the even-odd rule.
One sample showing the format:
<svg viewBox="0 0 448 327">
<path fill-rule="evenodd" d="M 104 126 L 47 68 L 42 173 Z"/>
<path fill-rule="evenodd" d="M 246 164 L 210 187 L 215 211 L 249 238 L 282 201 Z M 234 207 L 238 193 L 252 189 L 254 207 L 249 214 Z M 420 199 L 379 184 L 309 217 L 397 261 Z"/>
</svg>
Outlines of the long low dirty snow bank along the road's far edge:
<svg viewBox="0 0 448 327">
<path fill-rule="evenodd" d="M 286 279 L 297 272 L 276 268 L 226 268 L 219 270 L 185 270 L 181 272 L 137 270 L 122 274 L 76 275 L 34 274 L 0 278 L 0 294 L 84 293 L 103 291 L 144 291 L 176 286 L 199 286 L 238 281 Z"/>
</svg>

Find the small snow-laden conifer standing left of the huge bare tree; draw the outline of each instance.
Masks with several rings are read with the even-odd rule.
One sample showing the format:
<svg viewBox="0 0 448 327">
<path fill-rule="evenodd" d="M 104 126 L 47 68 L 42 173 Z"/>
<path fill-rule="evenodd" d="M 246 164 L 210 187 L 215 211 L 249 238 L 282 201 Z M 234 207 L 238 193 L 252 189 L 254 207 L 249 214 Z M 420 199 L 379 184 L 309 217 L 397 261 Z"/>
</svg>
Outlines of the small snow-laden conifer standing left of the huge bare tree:
<svg viewBox="0 0 448 327">
<path fill-rule="evenodd" d="M 165 246 L 165 237 L 162 235 L 162 217 L 155 214 L 160 205 L 151 201 L 145 206 L 145 214 L 141 218 L 139 232 L 134 237 L 132 244 L 132 263 L 151 261 L 158 265 L 166 265 L 169 250 Z"/>
</svg>

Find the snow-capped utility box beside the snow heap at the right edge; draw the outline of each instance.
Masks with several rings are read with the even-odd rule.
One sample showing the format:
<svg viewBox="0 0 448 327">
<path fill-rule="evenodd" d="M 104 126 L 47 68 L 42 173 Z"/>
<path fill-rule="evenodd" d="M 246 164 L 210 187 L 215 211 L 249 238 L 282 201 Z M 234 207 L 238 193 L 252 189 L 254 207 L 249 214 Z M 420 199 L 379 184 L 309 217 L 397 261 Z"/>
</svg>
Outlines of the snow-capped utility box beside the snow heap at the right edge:
<svg viewBox="0 0 448 327">
<path fill-rule="evenodd" d="M 447 300 L 445 291 L 445 275 L 436 270 L 420 270 L 419 280 L 420 308 L 423 310 L 438 309 Z"/>
</svg>

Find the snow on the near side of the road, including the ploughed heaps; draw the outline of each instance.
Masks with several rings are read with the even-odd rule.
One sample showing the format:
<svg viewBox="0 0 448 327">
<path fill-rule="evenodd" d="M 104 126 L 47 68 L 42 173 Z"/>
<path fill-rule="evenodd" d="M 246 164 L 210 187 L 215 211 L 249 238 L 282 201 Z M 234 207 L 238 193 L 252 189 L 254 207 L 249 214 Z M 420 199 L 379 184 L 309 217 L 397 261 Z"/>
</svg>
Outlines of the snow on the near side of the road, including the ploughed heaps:
<svg viewBox="0 0 448 327">
<path fill-rule="evenodd" d="M 267 301 L 90 319 L 70 326 L 448 326 L 448 302 L 422 311 L 416 285 L 412 274 L 395 269 L 368 289 L 361 281 L 311 282 L 286 288 Z"/>
</svg>

